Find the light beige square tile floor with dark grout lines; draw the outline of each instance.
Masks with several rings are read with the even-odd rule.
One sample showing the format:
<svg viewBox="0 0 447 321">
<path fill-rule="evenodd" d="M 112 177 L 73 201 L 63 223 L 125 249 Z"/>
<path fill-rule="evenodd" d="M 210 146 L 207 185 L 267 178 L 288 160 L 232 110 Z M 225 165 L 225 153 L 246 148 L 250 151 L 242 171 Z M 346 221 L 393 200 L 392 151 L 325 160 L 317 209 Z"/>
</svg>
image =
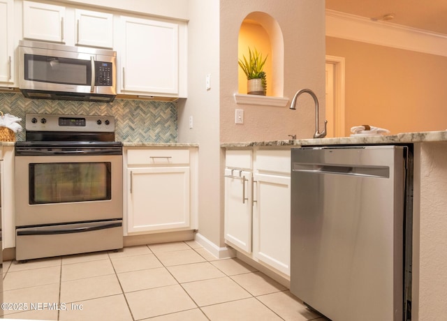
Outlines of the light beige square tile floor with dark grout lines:
<svg viewBox="0 0 447 321">
<path fill-rule="evenodd" d="M 195 241 L 3 263 L 5 318 L 318 320 L 284 286 Z"/>
</svg>

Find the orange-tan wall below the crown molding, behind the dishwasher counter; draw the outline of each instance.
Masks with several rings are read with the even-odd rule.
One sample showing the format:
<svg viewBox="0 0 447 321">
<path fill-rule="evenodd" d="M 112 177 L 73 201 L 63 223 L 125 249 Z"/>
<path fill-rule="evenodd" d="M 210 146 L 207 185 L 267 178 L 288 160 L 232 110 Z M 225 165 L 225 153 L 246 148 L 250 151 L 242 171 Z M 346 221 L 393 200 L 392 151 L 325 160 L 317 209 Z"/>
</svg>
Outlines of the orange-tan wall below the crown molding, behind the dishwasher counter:
<svg viewBox="0 0 447 321">
<path fill-rule="evenodd" d="M 345 58 L 345 133 L 369 124 L 391 133 L 447 128 L 447 57 L 326 37 Z"/>
</svg>

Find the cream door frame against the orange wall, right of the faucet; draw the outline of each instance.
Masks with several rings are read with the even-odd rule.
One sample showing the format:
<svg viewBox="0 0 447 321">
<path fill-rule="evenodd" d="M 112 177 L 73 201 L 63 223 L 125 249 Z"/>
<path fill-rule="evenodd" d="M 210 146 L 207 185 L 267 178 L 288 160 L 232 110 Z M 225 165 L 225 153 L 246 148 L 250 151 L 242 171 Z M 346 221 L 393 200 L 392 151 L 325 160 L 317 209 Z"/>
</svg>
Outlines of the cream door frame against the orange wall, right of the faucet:
<svg viewBox="0 0 447 321">
<path fill-rule="evenodd" d="M 344 80 L 345 80 L 345 64 L 344 57 L 336 57 L 326 55 L 326 64 L 334 65 L 334 118 L 335 118 L 335 137 L 345 137 L 344 128 Z"/>
</svg>

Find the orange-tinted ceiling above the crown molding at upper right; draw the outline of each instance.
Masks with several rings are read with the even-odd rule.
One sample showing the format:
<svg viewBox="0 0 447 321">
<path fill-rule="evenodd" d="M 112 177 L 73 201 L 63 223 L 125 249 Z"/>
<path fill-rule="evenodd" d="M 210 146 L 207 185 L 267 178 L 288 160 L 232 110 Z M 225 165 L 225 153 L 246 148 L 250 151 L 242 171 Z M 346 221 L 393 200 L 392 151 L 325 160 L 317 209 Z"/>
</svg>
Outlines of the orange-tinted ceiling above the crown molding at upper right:
<svg viewBox="0 0 447 321">
<path fill-rule="evenodd" d="M 388 23 L 447 35 L 446 0 L 325 0 L 326 8 L 367 18 L 393 13 Z"/>
</svg>

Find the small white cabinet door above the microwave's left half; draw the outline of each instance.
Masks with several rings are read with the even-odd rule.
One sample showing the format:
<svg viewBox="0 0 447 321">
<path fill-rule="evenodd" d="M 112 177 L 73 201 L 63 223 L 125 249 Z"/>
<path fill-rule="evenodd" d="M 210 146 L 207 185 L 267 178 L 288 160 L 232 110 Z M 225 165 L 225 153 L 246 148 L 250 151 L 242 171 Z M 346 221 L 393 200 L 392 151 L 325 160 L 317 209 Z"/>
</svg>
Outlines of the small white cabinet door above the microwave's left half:
<svg viewBox="0 0 447 321">
<path fill-rule="evenodd" d="M 65 7 L 23 1 L 23 38 L 64 43 Z"/>
</svg>

